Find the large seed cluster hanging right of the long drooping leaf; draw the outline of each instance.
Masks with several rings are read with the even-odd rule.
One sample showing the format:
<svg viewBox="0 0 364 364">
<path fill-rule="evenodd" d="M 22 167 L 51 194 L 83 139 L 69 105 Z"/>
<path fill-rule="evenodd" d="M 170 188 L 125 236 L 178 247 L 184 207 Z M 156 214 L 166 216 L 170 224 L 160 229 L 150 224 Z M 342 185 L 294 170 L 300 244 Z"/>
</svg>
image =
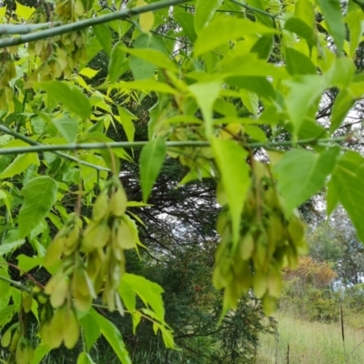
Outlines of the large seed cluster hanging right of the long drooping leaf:
<svg viewBox="0 0 364 364">
<path fill-rule="evenodd" d="M 252 163 L 252 184 L 241 216 L 240 241 L 233 244 L 231 220 L 223 209 L 217 221 L 214 285 L 224 288 L 224 308 L 234 308 L 250 288 L 262 298 L 267 314 L 276 308 L 281 268 L 295 268 L 307 249 L 305 226 L 298 214 L 287 214 L 268 165 Z"/>
</svg>

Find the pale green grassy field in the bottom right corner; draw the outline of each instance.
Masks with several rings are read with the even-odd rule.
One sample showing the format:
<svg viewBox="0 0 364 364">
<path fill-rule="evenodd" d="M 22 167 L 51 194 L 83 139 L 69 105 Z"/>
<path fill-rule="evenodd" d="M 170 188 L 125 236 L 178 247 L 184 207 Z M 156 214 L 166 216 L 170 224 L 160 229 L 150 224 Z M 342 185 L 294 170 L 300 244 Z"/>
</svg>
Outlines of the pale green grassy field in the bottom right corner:
<svg viewBox="0 0 364 364">
<path fill-rule="evenodd" d="M 257 364 L 362 364 L 364 330 L 345 328 L 345 353 L 337 323 L 308 322 L 278 313 L 278 337 L 264 335 Z"/>
</svg>

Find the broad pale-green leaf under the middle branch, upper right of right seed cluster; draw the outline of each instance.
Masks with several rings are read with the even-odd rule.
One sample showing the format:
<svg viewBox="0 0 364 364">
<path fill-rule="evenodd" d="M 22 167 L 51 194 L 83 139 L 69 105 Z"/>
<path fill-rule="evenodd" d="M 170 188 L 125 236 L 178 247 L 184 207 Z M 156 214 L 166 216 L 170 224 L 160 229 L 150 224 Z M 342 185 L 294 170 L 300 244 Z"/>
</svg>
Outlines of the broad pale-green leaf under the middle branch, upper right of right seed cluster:
<svg viewBox="0 0 364 364">
<path fill-rule="evenodd" d="M 288 213 L 324 186 L 338 155 L 339 147 L 332 147 L 320 154 L 295 149 L 281 157 L 274 172 L 278 176 L 278 187 L 286 201 Z"/>
</svg>

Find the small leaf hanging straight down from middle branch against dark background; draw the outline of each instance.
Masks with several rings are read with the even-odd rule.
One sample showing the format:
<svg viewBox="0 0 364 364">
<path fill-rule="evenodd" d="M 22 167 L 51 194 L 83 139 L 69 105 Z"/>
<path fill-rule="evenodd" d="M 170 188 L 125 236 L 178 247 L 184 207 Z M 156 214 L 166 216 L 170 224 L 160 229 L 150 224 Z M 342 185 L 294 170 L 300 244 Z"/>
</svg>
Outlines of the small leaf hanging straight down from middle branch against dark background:
<svg viewBox="0 0 364 364">
<path fill-rule="evenodd" d="M 143 147 L 139 159 L 140 184 L 143 191 L 143 201 L 147 202 L 152 187 L 158 177 L 160 168 L 166 157 L 166 140 L 157 137 Z"/>
</svg>

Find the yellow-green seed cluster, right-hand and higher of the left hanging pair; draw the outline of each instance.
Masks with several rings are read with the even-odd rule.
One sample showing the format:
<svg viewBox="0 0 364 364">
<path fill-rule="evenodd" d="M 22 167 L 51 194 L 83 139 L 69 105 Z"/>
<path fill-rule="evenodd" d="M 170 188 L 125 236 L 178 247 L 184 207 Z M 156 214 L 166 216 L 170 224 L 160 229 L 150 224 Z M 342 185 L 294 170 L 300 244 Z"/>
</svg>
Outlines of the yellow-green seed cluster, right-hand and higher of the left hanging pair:
<svg viewBox="0 0 364 364">
<path fill-rule="evenodd" d="M 125 269 L 124 250 L 139 243 L 137 228 L 126 215 L 126 193 L 117 177 L 96 199 L 93 219 L 86 227 L 81 249 L 86 253 L 86 274 L 96 292 L 102 289 L 103 303 L 122 311 L 117 288 Z"/>
</svg>

